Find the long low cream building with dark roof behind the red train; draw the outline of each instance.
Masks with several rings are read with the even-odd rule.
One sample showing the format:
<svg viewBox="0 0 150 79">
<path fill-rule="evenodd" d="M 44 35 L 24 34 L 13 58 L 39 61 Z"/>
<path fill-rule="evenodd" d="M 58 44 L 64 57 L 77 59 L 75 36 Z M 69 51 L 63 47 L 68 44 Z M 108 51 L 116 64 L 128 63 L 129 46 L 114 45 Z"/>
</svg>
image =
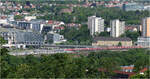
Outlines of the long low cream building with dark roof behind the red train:
<svg viewBox="0 0 150 79">
<path fill-rule="evenodd" d="M 95 37 L 92 46 L 132 46 L 130 38 Z"/>
</svg>

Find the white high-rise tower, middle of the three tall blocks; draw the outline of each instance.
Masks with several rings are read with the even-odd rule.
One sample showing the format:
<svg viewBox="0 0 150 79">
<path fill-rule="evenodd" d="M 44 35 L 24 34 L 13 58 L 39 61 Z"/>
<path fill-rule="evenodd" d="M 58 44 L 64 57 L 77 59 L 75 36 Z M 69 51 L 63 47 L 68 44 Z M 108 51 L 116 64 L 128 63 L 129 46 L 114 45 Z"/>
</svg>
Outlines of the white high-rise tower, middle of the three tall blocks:
<svg viewBox="0 0 150 79">
<path fill-rule="evenodd" d="M 119 21 L 118 19 L 112 20 L 110 22 L 111 26 L 111 36 L 112 37 L 119 37 L 125 32 L 125 22 Z"/>
</svg>

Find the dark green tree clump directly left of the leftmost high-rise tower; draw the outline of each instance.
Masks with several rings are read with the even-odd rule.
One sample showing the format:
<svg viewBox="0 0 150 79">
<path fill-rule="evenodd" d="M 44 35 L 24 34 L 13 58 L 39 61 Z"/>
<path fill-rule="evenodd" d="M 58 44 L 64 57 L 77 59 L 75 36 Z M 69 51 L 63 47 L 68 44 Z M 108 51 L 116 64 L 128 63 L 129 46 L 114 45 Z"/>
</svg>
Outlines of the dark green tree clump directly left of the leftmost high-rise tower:
<svg viewBox="0 0 150 79">
<path fill-rule="evenodd" d="M 82 25 L 79 29 L 65 27 L 60 34 L 68 40 L 67 44 L 90 45 L 92 42 L 92 36 L 90 36 L 87 25 Z"/>
</svg>

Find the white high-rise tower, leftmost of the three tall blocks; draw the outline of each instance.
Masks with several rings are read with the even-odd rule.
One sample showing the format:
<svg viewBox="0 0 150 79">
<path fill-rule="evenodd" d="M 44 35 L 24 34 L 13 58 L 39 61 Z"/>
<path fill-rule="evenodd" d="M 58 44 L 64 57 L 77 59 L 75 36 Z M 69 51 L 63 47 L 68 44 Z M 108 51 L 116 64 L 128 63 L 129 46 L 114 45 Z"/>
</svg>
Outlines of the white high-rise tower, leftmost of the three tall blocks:
<svg viewBox="0 0 150 79">
<path fill-rule="evenodd" d="M 88 17 L 88 29 L 91 35 L 104 32 L 104 19 L 96 16 Z"/>
</svg>

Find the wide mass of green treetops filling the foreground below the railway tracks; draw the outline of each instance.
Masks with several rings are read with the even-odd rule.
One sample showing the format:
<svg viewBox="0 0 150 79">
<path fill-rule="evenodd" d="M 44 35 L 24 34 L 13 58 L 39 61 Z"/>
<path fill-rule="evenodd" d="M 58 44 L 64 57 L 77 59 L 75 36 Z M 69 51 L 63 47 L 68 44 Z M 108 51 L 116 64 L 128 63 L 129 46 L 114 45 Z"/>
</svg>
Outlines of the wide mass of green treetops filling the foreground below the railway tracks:
<svg viewBox="0 0 150 79">
<path fill-rule="evenodd" d="M 7 52 L 5 48 L 0 50 L 1 78 L 110 78 L 115 75 L 112 71 L 119 70 L 121 65 L 135 64 L 138 70 L 149 65 L 149 54 L 144 49 L 91 52 L 88 56 L 52 54 L 19 57 L 10 56 Z M 98 68 L 110 73 L 99 72 Z"/>
</svg>

